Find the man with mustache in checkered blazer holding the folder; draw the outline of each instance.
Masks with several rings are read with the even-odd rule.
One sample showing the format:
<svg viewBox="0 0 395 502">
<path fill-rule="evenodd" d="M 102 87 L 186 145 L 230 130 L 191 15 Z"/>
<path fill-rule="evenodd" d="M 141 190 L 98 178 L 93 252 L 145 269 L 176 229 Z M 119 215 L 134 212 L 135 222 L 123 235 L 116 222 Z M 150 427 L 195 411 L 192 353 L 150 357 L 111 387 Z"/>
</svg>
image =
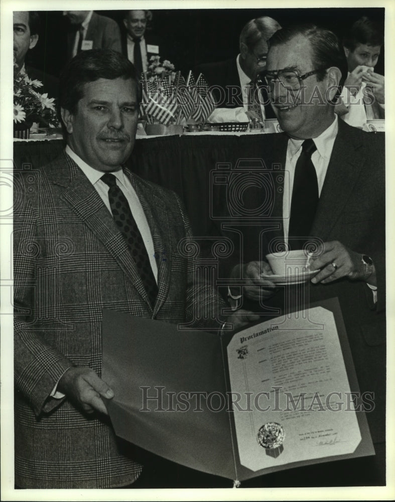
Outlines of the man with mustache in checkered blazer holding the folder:
<svg viewBox="0 0 395 502">
<path fill-rule="evenodd" d="M 120 53 L 81 52 L 60 80 L 65 151 L 16 173 L 18 487 L 125 487 L 142 471 L 107 417 L 103 308 L 197 327 L 198 304 L 212 313 L 201 327 L 222 325 L 223 302 L 194 282 L 192 259 L 178 251 L 191 236 L 179 198 L 123 169 L 139 94 L 136 69 Z"/>
</svg>

